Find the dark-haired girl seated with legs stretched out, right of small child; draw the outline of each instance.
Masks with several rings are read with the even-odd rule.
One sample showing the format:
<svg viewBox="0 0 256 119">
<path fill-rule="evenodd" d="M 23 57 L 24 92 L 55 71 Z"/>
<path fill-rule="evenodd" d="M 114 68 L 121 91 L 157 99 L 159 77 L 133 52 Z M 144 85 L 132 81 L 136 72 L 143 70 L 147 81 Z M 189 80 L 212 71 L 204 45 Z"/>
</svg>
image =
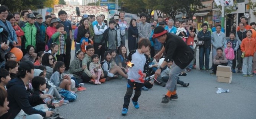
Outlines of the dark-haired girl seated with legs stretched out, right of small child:
<svg viewBox="0 0 256 119">
<path fill-rule="evenodd" d="M 104 71 L 107 71 L 107 78 L 106 81 L 109 81 L 111 78 L 117 78 L 118 75 L 115 75 L 118 73 L 119 75 L 123 76 L 124 78 L 127 78 L 128 76 L 125 75 L 125 73 L 121 70 L 120 67 L 117 65 L 112 65 L 112 56 L 110 51 L 106 51 L 104 54 L 105 60 L 101 62 L 102 69 Z M 112 66 L 112 67 L 111 67 Z"/>
</svg>

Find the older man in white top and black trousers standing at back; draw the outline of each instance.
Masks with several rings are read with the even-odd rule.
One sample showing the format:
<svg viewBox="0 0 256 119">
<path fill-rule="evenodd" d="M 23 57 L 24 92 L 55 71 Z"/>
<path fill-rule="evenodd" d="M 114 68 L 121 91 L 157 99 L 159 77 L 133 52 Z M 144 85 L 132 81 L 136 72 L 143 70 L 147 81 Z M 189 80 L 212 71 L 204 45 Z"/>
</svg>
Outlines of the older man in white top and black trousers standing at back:
<svg viewBox="0 0 256 119">
<path fill-rule="evenodd" d="M 95 49 L 95 54 L 97 54 L 98 56 L 100 56 L 100 61 L 104 60 L 104 52 L 105 52 L 105 48 L 102 47 L 102 49 L 100 49 L 100 42 L 101 39 L 103 37 L 103 33 L 104 31 L 107 29 L 107 26 L 102 23 L 102 16 L 97 16 L 97 24 L 94 25 L 94 33 L 95 33 L 95 37 L 94 37 L 94 49 Z M 94 21 L 95 22 L 95 21 Z"/>
</svg>

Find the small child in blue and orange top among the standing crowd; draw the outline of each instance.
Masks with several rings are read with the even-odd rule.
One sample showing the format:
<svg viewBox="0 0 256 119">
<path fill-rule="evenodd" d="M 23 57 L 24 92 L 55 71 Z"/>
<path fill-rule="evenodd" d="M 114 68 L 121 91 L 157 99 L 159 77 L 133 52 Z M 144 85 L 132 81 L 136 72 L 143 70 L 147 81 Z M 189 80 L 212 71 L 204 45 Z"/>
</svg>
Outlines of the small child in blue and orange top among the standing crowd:
<svg viewBox="0 0 256 119">
<path fill-rule="evenodd" d="M 81 51 L 83 51 L 84 53 L 86 53 L 86 46 L 88 46 L 89 44 L 93 45 L 93 41 L 91 38 L 89 38 L 90 36 L 90 32 L 89 30 L 85 33 L 84 37 L 81 38 L 80 40 L 80 44 L 81 44 Z"/>
</svg>

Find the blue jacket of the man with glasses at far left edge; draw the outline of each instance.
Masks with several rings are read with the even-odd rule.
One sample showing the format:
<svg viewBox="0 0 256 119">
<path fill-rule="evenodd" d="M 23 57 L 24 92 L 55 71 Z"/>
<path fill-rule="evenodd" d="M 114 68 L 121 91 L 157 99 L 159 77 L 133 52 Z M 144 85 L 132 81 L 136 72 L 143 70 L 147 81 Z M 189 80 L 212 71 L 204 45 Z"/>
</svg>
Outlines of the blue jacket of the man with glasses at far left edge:
<svg viewBox="0 0 256 119">
<path fill-rule="evenodd" d="M 9 21 L 5 20 L 5 22 L 7 26 L 5 25 L 4 21 L 0 20 L 0 26 L 2 26 L 3 29 L 6 29 L 8 31 L 8 40 L 10 41 L 10 44 L 13 44 L 13 41 L 17 42 L 16 32 Z"/>
</svg>

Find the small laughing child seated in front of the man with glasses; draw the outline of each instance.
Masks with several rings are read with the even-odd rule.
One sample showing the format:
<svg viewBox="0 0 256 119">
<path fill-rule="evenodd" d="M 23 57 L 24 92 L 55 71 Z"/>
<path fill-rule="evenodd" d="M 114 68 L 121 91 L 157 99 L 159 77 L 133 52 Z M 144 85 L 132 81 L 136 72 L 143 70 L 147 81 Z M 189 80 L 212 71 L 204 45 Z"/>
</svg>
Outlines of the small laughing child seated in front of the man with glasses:
<svg viewBox="0 0 256 119">
<path fill-rule="evenodd" d="M 100 83 L 100 77 L 103 78 L 104 73 L 101 68 L 101 64 L 99 63 L 99 56 L 97 54 L 94 54 L 92 57 L 92 62 L 89 65 L 89 71 L 92 73 L 92 75 L 97 76 L 97 80 L 95 80 L 94 84 L 101 84 Z"/>
</svg>

